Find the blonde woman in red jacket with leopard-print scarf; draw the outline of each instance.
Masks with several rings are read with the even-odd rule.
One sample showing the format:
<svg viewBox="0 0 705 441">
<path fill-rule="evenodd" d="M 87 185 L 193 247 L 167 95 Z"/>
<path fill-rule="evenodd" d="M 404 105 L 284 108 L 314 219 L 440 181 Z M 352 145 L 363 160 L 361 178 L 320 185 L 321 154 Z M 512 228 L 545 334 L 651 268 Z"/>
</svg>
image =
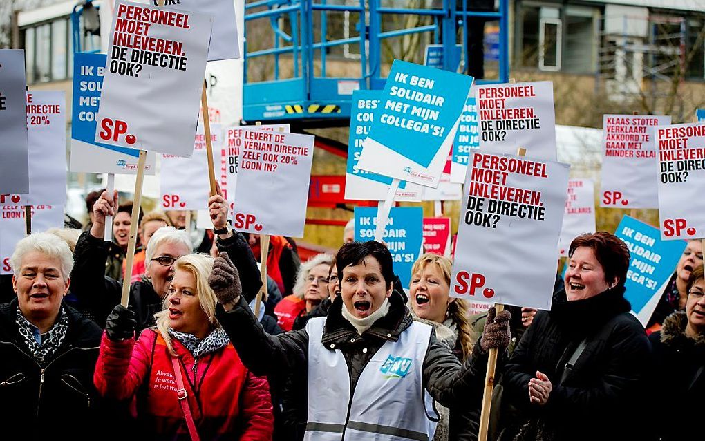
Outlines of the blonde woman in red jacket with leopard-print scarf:
<svg viewBox="0 0 705 441">
<path fill-rule="evenodd" d="M 135 399 L 145 439 L 271 440 L 269 385 L 245 368 L 215 318 L 213 261 L 176 260 L 157 327 L 137 342 L 131 310 L 118 305 L 106 322 L 94 382 L 105 397 Z M 237 277 L 231 283 L 240 286 Z"/>
</svg>

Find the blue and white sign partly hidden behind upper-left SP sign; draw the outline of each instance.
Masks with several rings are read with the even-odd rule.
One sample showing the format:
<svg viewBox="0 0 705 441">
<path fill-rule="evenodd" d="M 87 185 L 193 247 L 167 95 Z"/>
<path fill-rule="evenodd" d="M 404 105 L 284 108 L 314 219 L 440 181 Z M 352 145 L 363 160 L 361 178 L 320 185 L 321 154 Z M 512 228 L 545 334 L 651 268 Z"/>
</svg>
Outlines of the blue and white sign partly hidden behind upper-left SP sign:
<svg viewBox="0 0 705 441">
<path fill-rule="evenodd" d="M 94 141 L 105 61 L 105 54 L 74 54 L 71 171 L 135 174 L 140 150 Z M 148 155 L 145 170 L 154 174 L 153 165 L 154 155 Z"/>
</svg>

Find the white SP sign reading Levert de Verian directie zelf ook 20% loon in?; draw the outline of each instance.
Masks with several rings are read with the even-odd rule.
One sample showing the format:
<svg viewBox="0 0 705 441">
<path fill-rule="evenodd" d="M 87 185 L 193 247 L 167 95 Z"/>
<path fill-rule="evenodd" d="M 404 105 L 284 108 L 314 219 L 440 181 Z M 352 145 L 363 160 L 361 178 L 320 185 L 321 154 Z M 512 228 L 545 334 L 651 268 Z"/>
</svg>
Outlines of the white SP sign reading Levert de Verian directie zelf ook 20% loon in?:
<svg viewBox="0 0 705 441">
<path fill-rule="evenodd" d="M 233 228 L 301 237 L 306 222 L 314 137 L 243 131 Z"/>
</svg>

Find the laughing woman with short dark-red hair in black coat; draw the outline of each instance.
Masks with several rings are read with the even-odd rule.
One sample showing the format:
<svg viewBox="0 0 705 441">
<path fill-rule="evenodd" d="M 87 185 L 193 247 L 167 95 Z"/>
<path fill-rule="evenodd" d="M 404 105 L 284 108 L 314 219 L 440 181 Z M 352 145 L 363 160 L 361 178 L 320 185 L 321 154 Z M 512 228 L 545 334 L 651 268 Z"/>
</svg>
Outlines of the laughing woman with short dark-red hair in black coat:
<svg viewBox="0 0 705 441">
<path fill-rule="evenodd" d="M 564 289 L 539 311 L 503 376 L 500 440 L 641 439 L 633 423 L 649 341 L 624 298 L 629 250 L 599 231 L 573 239 Z"/>
</svg>

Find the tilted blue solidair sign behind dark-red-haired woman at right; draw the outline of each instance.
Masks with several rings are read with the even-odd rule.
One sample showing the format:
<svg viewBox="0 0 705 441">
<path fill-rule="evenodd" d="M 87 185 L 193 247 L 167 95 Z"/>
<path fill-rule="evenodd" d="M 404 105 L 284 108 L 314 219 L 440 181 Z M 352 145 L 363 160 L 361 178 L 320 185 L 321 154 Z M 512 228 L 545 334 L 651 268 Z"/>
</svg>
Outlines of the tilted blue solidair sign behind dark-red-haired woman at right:
<svg viewBox="0 0 705 441">
<path fill-rule="evenodd" d="M 686 242 L 662 241 L 656 227 L 629 216 L 622 218 L 615 236 L 627 244 L 630 252 L 625 298 L 632 303 L 633 313 L 645 325 L 654 313 Z"/>
</svg>

